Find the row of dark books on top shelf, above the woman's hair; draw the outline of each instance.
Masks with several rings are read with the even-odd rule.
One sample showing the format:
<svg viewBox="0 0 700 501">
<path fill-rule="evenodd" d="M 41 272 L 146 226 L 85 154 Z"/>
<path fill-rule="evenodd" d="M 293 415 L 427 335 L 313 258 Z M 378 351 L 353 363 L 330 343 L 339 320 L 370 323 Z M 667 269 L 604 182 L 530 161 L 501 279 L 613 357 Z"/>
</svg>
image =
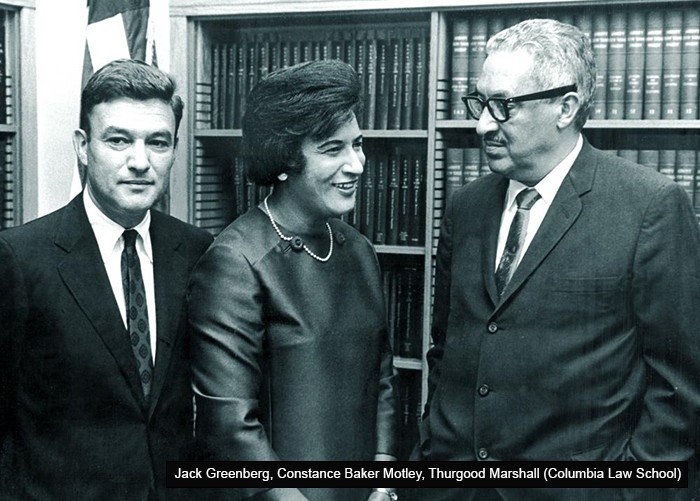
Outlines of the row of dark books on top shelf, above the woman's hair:
<svg viewBox="0 0 700 501">
<path fill-rule="evenodd" d="M 246 96 L 262 77 L 296 63 L 340 59 L 362 82 L 364 129 L 425 129 L 427 27 L 241 31 L 210 48 L 210 82 L 198 86 L 199 127 L 240 128 Z"/>
</svg>

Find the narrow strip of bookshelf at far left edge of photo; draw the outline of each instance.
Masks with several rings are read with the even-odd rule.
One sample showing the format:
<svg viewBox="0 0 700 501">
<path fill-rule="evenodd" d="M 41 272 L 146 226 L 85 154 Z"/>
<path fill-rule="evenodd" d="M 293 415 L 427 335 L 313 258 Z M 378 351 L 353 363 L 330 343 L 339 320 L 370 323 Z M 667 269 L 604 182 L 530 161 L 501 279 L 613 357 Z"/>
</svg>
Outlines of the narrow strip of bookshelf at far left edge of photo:
<svg viewBox="0 0 700 501">
<path fill-rule="evenodd" d="M 0 229 L 36 217 L 34 10 L 0 2 Z"/>
</svg>

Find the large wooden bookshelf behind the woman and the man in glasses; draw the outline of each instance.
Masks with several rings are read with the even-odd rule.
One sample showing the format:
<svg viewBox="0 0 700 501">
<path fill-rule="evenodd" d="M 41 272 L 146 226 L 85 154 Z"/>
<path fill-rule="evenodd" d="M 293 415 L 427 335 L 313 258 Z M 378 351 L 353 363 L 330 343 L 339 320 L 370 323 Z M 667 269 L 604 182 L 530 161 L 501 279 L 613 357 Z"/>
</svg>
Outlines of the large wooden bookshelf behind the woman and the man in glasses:
<svg viewBox="0 0 700 501">
<path fill-rule="evenodd" d="M 662 23 L 660 46 L 647 51 L 647 37 L 656 40 L 655 35 L 646 32 L 647 19 L 656 26 L 658 13 L 665 11 L 673 12 L 667 16 L 679 28 L 680 38 Z M 171 0 L 173 50 L 175 54 L 185 55 L 173 58 L 172 70 L 188 103 L 187 134 L 180 140 L 181 151 L 173 171 L 171 211 L 217 233 L 249 202 L 254 203 L 263 195 L 254 187 L 244 186 L 237 165 L 241 131 L 236 114 L 242 107 L 237 89 L 250 88 L 255 78 L 273 64 L 279 64 L 274 61 L 285 60 L 283 55 L 271 54 L 281 53 L 289 45 L 290 54 L 295 50 L 298 53 L 288 56 L 293 60 L 330 55 L 355 65 L 365 88 L 370 89 L 365 103 L 370 115 L 365 114 L 359 121 L 368 158 L 363 178 L 369 173 L 372 179 L 370 186 L 363 185 L 358 209 L 350 214 L 348 222 L 373 241 L 384 273 L 389 328 L 394 333 L 394 365 L 401 375 L 402 454 L 405 455 L 415 438 L 418 415 L 426 398 L 427 365 L 423 355 L 430 347 L 434 256 L 446 196 L 451 189 L 487 171 L 478 154 L 476 123 L 467 120 L 461 101 L 458 107 L 452 106 L 460 93 L 473 89 L 474 68 L 483 58 L 478 51 L 483 51 L 490 34 L 528 17 L 552 17 L 582 24 L 598 45 L 601 64 L 605 59 L 601 88 L 614 98 L 610 101 L 606 95 L 604 109 L 597 110 L 584 134 L 595 146 L 656 168 L 683 184 L 695 201 L 696 212 L 700 213 L 697 153 L 700 150 L 697 111 L 700 54 L 697 45 L 690 55 L 664 45 L 667 38 L 687 49 L 682 38 L 686 27 L 678 23 L 678 12 L 681 20 L 691 19 L 695 12 L 700 12 L 700 2 Z M 643 15 L 640 17 L 639 13 Z M 664 14 L 660 15 L 665 19 Z M 620 66 L 620 58 L 624 56 L 626 60 L 629 55 L 628 47 L 639 42 L 635 38 L 639 37 L 639 30 L 630 27 L 636 26 L 634 22 L 640 18 L 645 21 L 641 35 L 643 54 L 640 56 L 638 51 L 630 60 L 639 61 L 642 57 L 646 65 L 646 53 L 653 54 L 656 50 L 649 63 L 658 73 L 662 61 L 661 73 L 655 78 L 637 71 L 636 63 L 631 69 Z M 635 21 L 621 23 L 631 19 Z M 607 26 L 607 32 L 603 28 L 594 32 L 594 25 Z M 622 48 L 615 45 L 618 42 L 623 44 Z M 253 47 L 249 54 L 257 58 L 253 59 L 257 62 L 257 74 L 255 70 L 243 71 L 243 80 L 236 76 L 227 80 L 222 75 L 231 67 L 236 72 L 241 68 L 242 59 L 237 56 L 241 46 L 249 51 Z M 383 50 L 388 53 L 388 62 L 397 59 L 403 62 L 398 66 L 389 63 L 386 71 L 390 82 L 394 78 L 400 89 L 410 89 L 410 116 L 405 107 L 403 110 L 399 107 L 398 113 L 388 108 L 386 117 L 379 114 L 382 106 L 391 106 L 390 94 L 396 92 L 391 88 L 387 91 L 381 83 Z M 303 55 L 304 51 L 307 56 Z M 362 62 L 357 57 L 359 51 L 364 54 Z M 222 57 L 224 53 L 226 58 Z M 402 56 L 407 53 L 413 57 Z M 674 62 L 679 55 L 684 58 L 680 67 Z M 260 70 L 261 59 L 268 61 L 266 70 Z M 463 65 L 457 71 L 455 59 Z M 667 64 L 674 70 L 670 76 L 663 73 L 664 60 L 672 61 Z M 196 64 L 191 64 L 192 61 Z M 252 79 L 245 79 L 247 73 L 251 73 Z M 418 74 L 425 80 L 420 80 Z M 407 75 L 413 79 L 411 83 L 407 83 Z M 417 84 L 418 81 L 421 83 Z M 385 92 L 389 92 L 386 99 L 382 97 Z M 408 99 L 403 90 L 396 95 L 404 103 Z M 671 108 L 675 106 L 671 112 L 665 111 L 669 102 Z M 222 104 L 224 109 L 231 104 L 233 113 L 220 113 Z M 655 111 L 650 113 L 650 109 Z M 392 164 L 398 172 L 396 177 L 391 174 Z M 388 169 L 386 177 L 377 174 L 383 168 Z M 378 182 L 379 179 L 382 181 Z M 385 189 L 387 198 L 381 199 Z M 416 193 L 413 196 L 412 190 Z M 372 192 L 374 197 L 369 195 Z M 374 208 L 367 209 L 368 199 L 373 200 Z M 382 212 L 382 204 L 386 204 L 385 212 L 391 213 L 393 207 L 401 215 L 406 203 L 409 208 L 417 208 L 418 216 L 413 217 L 422 219 L 420 225 L 416 228 L 416 220 L 409 217 L 407 240 L 396 237 L 402 234 L 401 228 L 391 238 L 388 231 L 385 238 L 377 238 L 378 225 L 390 224 L 392 220 L 390 216 L 386 219 L 386 215 L 384 218 L 377 215 Z M 367 210 L 375 216 L 369 223 Z"/>
</svg>

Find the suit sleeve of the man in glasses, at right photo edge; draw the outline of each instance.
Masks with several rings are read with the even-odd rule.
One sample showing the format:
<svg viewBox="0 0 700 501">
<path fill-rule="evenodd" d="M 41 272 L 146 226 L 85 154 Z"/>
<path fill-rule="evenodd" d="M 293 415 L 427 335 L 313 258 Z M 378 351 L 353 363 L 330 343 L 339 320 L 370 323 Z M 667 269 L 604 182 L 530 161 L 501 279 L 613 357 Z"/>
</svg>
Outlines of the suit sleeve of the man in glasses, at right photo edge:
<svg viewBox="0 0 700 501">
<path fill-rule="evenodd" d="M 633 290 L 647 388 L 629 459 L 687 460 L 700 426 L 700 232 L 675 184 L 649 203 Z"/>
</svg>

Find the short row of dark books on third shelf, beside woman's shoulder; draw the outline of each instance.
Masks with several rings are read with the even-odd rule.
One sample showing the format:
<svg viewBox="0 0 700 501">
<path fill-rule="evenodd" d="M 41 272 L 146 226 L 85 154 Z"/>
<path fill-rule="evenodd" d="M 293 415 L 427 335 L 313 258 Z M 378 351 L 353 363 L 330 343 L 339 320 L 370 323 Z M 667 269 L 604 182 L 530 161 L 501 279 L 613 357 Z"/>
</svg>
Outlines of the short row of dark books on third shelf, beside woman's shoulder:
<svg viewBox="0 0 700 501">
<path fill-rule="evenodd" d="M 383 272 L 389 339 L 395 356 L 420 358 L 423 332 L 423 273 L 416 267 Z"/>
</svg>

